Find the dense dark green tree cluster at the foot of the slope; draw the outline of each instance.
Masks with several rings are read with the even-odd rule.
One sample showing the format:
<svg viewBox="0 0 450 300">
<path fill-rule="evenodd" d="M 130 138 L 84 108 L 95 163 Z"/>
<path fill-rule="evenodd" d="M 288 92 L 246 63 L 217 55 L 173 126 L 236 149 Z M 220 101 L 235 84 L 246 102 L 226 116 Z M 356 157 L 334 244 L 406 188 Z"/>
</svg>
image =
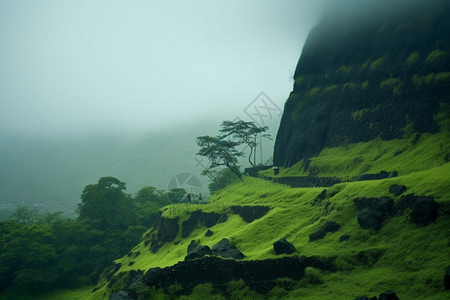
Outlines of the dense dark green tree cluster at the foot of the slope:
<svg viewBox="0 0 450 300">
<path fill-rule="evenodd" d="M 0 223 L 0 293 L 94 284 L 105 267 L 140 242 L 168 204 L 165 192 L 103 177 L 84 188 L 77 219 L 18 207 Z"/>
</svg>

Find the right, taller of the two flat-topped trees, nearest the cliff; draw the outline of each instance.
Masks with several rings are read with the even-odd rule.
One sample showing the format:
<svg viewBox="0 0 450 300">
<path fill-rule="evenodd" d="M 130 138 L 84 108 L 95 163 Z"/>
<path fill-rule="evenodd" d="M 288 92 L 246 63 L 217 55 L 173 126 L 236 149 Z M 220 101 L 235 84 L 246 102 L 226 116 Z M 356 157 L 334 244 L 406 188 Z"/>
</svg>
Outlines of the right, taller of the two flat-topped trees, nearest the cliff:
<svg viewBox="0 0 450 300">
<path fill-rule="evenodd" d="M 245 122 L 242 120 L 223 121 L 220 125 L 222 128 L 219 130 L 224 135 L 222 138 L 228 138 L 233 140 L 236 145 L 246 144 L 250 147 L 250 155 L 248 156 L 248 162 L 254 167 L 256 165 L 256 137 L 261 134 L 261 137 L 270 139 L 270 134 L 264 133 L 269 127 L 258 127 L 254 122 Z M 251 160 L 253 154 L 253 162 Z"/>
</svg>

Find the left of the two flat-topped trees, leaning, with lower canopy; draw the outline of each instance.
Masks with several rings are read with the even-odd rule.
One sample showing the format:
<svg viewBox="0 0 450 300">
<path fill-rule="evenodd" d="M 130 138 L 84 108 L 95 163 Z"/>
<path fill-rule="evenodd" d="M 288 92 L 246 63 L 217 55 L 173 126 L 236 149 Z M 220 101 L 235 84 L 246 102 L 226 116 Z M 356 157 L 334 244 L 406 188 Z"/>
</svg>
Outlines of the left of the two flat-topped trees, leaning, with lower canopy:
<svg viewBox="0 0 450 300">
<path fill-rule="evenodd" d="M 197 155 L 204 156 L 209 160 L 209 169 L 224 166 L 241 179 L 242 174 L 237 163 L 238 157 L 244 156 L 244 153 L 235 149 L 240 143 L 231 140 L 227 141 L 220 136 L 205 135 L 197 137 L 197 145 L 200 147 Z"/>
</svg>

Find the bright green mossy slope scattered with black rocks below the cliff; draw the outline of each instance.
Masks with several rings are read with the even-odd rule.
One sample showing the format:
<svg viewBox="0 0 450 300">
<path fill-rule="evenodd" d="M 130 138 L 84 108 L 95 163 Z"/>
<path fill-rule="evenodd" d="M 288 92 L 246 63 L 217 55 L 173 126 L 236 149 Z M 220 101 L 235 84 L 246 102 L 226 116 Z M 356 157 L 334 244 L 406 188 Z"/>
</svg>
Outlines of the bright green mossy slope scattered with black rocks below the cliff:
<svg viewBox="0 0 450 300">
<path fill-rule="evenodd" d="M 274 258 L 273 242 L 284 237 L 292 242 L 297 255 L 336 257 L 337 272 L 309 270 L 299 282 L 290 282 L 290 289 L 280 284 L 266 298 L 269 299 L 353 299 L 360 295 L 379 295 L 394 290 L 400 299 L 445 299 L 450 292 L 443 287 L 443 276 L 450 265 L 450 165 L 444 161 L 449 153 L 448 135 L 423 135 L 413 145 L 413 139 L 358 143 L 324 149 L 311 160 L 321 176 L 352 177 L 381 170 L 397 170 L 399 177 L 384 180 L 344 182 L 327 188 L 323 201 L 314 201 L 324 188 L 288 188 L 258 178 L 244 178 L 211 196 L 205 205 L 168 206 L 164 217 L 179 217 L 180 224 L 190 211 L 227 212 L 225 223 L 211 228 L 214 235 L 205 237 L 206 228 L 197 228 L 187 238 L 181 233 L 172 243 L 165 244 L 157 253 L 151 253 L 144 243 L 132 252 L 137 257 L 125 256 L 117 263 L 119 272 L 131 269 L 148 270 L 165 267 L 184 260 L 191 240 L 213 246 L 228 238 L 247 260 Z M 302 165 L 282 170 L 279 176 L 306 175 Z M 440 205 L 438 219 L 425 227 L 414 225 L 407 215 L 388 219 L 378 232 L 361 229 L 353 199 L 358 197 L 391 196 L 389 186 L 407 186 L 405 194 L 433 196 Z M 394 197 L 393 197 L 394 198 Z M 395 200 L 398 201 L 399 197 Z M 232 205 L 266 205 L 271 210 L 262 218 L 246 223 L 231 213 Z M 324 239 L 310 242 L 309 235 L 326 221 L 336 221 L 341 228 L 328 233 Z M 181 231 L 181 230 L 180 230 Z M 339 242 L 341 235 L 349 241 Z M 363 253 L 363 254 L 361 254 Z M 361 259 L 361 257 L 364 259 Z M 130 264 L 132 262 L 132 264 Z M 90 294 L 89 299 L 107 299 L 111 289 L 106 281 Z M 113 286 L 119 289 L 120 283 Z M 67 291 L 48 295 L 47 299 L 80 299 L 86 290 Z M 70 296 L 69 296 L 70 295 Z M 154 292 L 156 299 L 168 299 Z M 198 286 L 188 299 L 224 299 L 210 285 Z M 230 285 L 228 298 L 264 298 L 243 283 Z"/>
</svg>

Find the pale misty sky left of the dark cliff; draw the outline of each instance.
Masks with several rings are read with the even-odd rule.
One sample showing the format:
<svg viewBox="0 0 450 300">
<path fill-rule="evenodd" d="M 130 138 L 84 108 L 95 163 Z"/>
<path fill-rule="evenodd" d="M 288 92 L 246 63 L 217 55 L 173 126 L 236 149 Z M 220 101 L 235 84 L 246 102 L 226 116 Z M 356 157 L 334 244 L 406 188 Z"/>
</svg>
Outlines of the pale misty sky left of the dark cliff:
<svg viewBox="0 0 450 300">
<path fill-rule="evenodd" d="M 0 1 L 0 134 L 145 132 L 281 109 L 324 0 Z"/>
</svg>

